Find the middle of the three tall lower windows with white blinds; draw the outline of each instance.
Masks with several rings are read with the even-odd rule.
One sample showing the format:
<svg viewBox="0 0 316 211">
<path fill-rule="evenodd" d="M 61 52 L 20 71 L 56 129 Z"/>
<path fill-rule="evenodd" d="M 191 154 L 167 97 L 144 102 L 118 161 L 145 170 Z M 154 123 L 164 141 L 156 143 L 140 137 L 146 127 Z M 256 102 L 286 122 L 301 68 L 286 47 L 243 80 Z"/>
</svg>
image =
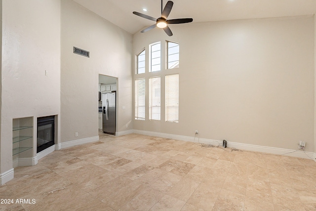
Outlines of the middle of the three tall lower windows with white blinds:
<svg viewBox="0 0 316 211">
<path fill-rule="evenodd" d="M 149 78 L 149 120 L 160 120 L 160 76 Z"/>
</svg>

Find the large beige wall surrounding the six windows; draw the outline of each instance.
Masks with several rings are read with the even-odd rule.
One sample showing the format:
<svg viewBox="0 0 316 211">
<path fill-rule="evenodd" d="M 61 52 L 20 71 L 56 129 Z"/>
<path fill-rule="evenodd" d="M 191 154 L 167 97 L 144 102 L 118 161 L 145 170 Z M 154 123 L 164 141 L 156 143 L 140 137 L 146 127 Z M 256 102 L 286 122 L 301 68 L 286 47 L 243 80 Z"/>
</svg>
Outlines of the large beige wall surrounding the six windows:
<svg viewBox="0 0 316 211">
<path fill-rule="evenodd" d="M 179 123 L 165 123 L 162 109 L 161 121 L 134 120 L 134 129 L 191 137 L 197 129 L 200 138 L 292 150 L 303 140 L 313 152 L 314 16 L 170 28 L 172 37 L 158 28 L 136 33 L 134 55 L 153 42 L 180 43 L 172 70 L 180 74 Z"/>
</svg>

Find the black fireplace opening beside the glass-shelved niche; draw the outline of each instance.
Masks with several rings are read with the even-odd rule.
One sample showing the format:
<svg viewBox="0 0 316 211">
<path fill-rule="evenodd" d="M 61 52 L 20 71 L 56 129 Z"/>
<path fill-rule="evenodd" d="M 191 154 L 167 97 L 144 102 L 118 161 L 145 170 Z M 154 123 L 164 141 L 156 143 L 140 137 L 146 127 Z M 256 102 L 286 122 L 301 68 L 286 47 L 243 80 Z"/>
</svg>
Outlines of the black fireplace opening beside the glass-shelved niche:
<svg viewBox="0 0 316 211">
<path fill-rule="evenodd" d="M 55 144 L 55 116 L 38 118 L 37 153 Z"/>
</svg>

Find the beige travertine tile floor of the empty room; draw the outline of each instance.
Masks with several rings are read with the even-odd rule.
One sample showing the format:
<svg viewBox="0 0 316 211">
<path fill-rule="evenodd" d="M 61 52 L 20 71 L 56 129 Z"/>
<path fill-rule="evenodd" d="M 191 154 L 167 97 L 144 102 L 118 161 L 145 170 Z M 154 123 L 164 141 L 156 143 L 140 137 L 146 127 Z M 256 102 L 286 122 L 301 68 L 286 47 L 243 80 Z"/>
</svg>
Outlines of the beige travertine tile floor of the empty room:
<svg viewBox="0 0 316 211">
<path fill-rule="evenodd" d="M 99 142 L 54 151 L 14 174 L 0 186 L 0 198 L 14 203 L 0 210 L 316 210 L 313 160 L 140 134 L 100 134 Z"/>
</svg>

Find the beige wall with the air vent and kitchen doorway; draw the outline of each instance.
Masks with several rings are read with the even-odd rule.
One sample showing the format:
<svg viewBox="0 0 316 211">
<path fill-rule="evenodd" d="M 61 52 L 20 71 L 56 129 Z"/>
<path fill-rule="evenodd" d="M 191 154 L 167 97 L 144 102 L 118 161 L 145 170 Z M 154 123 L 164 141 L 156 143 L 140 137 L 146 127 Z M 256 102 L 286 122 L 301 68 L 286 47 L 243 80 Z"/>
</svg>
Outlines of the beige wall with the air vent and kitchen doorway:
<svg viewBox="0 0 316 211">
<path fill-rule="evenodd" d="M 118 78 L 117 128 L 132 129 L 132 35 L 72 0 L 61 2 L 62 142 L 98 136 L 99 74 Z M 90 57 L 74 54 L 74 46 Z"/>
</svg>

